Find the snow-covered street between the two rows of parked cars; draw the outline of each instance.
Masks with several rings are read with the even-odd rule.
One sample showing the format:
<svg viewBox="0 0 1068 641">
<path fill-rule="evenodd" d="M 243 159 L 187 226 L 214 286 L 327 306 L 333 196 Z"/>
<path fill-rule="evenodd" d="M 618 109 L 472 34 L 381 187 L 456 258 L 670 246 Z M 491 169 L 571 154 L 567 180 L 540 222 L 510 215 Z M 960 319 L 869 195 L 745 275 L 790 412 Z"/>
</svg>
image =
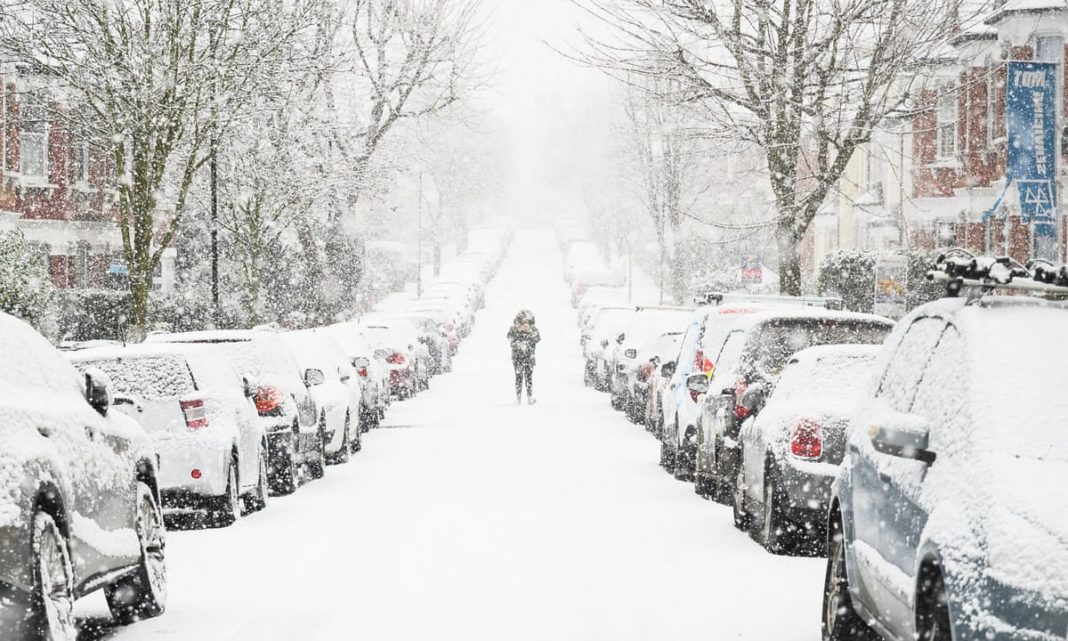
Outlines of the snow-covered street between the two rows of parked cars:
<svg viewBox="0 0 1068 641">
<path fill-rule="evenodd" d="M 173 532 L 167 614 L 89 639 L 752 639 L 819 636 L 824 562 L 775 557 L 657 465 L 658 442 L 582 384 L 560 252 L 519 232 L 452 374 L 364 451 L 270 510 Z M 543 332 L 516 406 L 505 332 Z"/>
</svg>

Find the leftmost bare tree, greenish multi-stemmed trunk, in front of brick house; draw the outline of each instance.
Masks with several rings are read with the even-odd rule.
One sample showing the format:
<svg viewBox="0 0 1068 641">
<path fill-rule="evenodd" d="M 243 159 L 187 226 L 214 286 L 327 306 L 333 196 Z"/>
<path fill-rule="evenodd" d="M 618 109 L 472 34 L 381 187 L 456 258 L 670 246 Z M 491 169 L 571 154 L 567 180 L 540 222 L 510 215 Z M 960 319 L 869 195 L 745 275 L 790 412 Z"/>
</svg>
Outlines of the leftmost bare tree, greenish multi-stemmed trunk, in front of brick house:
<svg viewBox="0 0 1068 641">
<path fill-rule="evenodd" d="M 64 85 L 113 141 L 131 324 L 211 140 L 285 65 L 318 0 L 2 0 L 0 50 Z M 77 113 L 77 112 L 73 112 Z"/>
</svg>

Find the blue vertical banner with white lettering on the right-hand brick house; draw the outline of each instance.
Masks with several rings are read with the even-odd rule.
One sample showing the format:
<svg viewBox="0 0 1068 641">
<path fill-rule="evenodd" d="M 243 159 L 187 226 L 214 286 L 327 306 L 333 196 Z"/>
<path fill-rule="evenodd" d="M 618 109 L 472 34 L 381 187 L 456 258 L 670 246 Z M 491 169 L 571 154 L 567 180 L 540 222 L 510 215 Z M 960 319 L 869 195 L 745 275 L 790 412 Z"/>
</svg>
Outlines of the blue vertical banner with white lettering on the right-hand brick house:
<svg viewBox="0 0 1068 641">
<path fill-rule="evenodd" d="M 1034 223 L 1036 245 L 1056 237 L 1056 72 L 1053 62 L 1008 62 L 1008 177 L 1020 192 L 1021 220 Z"/>
</svg>

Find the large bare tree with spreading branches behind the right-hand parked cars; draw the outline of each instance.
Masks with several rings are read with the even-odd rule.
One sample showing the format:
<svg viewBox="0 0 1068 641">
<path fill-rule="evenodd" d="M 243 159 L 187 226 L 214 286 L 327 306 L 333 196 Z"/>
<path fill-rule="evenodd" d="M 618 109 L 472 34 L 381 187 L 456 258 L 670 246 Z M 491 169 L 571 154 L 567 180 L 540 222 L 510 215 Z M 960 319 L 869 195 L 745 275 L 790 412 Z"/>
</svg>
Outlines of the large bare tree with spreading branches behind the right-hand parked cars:
<svg viewBox="0 0 1068 641">
<path fill-rule="evenodd" d="M 915 71 L 959 29 L 960 0 L 574 0 L 609 27 L 576 54 L 763 152 L 781 290 L 801 293 L 801 245 L 858 146 L 907 106 Z"/>
</svg>

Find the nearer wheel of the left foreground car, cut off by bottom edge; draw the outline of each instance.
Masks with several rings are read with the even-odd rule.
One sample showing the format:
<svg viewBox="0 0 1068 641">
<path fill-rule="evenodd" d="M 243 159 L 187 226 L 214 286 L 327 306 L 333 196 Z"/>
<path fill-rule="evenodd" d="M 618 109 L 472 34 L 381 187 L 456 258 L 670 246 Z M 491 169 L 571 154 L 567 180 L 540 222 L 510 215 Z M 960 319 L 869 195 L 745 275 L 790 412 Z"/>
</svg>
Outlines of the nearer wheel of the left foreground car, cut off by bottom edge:
<svg viewBox="0 0 1068 641">
<path fill-rule="evenodd" d="M 33 596 L 25 637 L 51 641 L 78 636 L 74 623 L 74 568 L 70 547 L 47 512 L 33 515 Z"/>
</svg>

